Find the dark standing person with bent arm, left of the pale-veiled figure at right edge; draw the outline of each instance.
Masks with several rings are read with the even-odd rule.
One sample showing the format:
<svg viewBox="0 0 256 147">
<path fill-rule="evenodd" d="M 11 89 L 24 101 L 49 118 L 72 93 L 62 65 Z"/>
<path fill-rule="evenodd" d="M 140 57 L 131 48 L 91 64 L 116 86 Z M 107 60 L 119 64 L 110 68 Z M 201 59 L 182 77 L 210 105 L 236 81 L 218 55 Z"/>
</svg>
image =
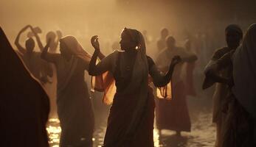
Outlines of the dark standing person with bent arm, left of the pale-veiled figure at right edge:
<svg viewBox="0 0 256 147">
<path fill-rule="evenodd" d="M 227 96 L 229 94 L 229 80 L 232 79 L 232 63 L 229 62 L 229 65 L 222 67 L 221 70 L 210 72 L 212 68 L 214 68 L 216 62 L 224 56 L 224 54 L 229 51 L 235 51 L 240 45 L 241 39 L 243 37 L 243 32 L 241 28 L 235 24 L 231 24 L 225 29 L 226 34 L 226 44 L 227 46 L 221 49 L 217 49 L 215 53 L 212 55 L 212 59 L 208 63 L 204 79 L 203 88 L 207 88 L 216 83 L 215 93 L 213 95 L 213 114 L 212 114 L 212 122 L 217 125 L 217 140 L 216 146 L 221 146 L 221 141 L 223 140 L 222 132 L 224 128 L 224 121 L 226 120 L 226 114 L 223 112 L 224 104 L 226 104 Z M 222 63 L 224 64 L 224 63 Z M 221 65 L 220 65 L 221 66 Z M 209 71 L 210 70 L 210 71 Z M 226 77 L 226 83 L 221 81 L 219 76 Z"/>
</svg>

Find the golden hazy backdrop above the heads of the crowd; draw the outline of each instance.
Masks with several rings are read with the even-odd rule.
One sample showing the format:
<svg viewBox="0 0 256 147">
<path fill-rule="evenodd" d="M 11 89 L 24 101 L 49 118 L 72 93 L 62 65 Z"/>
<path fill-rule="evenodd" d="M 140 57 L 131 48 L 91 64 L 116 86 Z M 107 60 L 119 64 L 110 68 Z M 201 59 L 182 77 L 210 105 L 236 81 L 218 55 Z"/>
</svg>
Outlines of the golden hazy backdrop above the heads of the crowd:
<svg viewBox="0 0 256 147">
<path fill-rule="evenodd" d="M 204 32 L 212 36 L 212 42 L 222 46 L 227 24 L 239 24 L 246 29 L 256 20 L 255 14 L 255 0 L 0 1 L 0 26 L 12 43 L 18 31 L 31 24 L 41 27 L 44 43 L 46 32 L 60 29 L 63 35 L 77 37 L 90 52 L 91 35 L 99 35 L 102 46 L 110 47 L 114 40 L 119 40 L 125 26 L 147 30 L 151 40 L 159 37 L 163 27 L 170 29 L 179 40 L 183 39 L 184 32 Z M 21 40 L 25 40 L 26 35 L 23 36 Z M 111 49 L 103 49 L 103 52 L 108 53 L 108 50 Z"/>
</svg>

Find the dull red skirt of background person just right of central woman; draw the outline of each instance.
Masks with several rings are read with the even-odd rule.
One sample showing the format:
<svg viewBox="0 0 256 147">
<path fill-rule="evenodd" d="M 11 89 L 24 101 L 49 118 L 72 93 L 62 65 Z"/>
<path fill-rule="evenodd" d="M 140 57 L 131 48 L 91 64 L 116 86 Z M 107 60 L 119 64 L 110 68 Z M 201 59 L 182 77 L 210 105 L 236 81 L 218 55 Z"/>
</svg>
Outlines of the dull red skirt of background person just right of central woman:
<svg viewBox="0 0 256 147">
<path fill-rule="evenodd" d="M 190 115 L 183 82 L 173 85 L 171 101 L 156 99 L 156 127 L 157 129 L 190 132 Z"/>
</svg>

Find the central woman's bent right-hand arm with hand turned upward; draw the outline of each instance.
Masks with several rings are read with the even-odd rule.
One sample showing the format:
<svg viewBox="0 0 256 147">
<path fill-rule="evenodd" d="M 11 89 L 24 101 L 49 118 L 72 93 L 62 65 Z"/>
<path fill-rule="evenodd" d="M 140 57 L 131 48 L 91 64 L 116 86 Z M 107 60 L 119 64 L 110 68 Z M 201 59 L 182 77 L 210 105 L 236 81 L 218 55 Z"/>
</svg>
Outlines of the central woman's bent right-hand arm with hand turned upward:
<svg viewBox="0 0 256 147">
<path fill-rule="evenodd" d="M 153 62 L 153 60 L 151 61 Z M 181 58 L 179 56 L 173 57 L 172 62 L 170 63 L 169 70 L 167 71 L 166 74 L 162 73 L 159 71 L 158 68 L 156 68 L 156 65 L 153 63 L 151 69 L 150 69 L 150 74 L 153 78 L 153 84 L 156 87 L 163 87 L 170 82 L 170 79 L 173 75 L 173 70 L 175 68 L 175 65 L 181 62 Z"/>
</svg>

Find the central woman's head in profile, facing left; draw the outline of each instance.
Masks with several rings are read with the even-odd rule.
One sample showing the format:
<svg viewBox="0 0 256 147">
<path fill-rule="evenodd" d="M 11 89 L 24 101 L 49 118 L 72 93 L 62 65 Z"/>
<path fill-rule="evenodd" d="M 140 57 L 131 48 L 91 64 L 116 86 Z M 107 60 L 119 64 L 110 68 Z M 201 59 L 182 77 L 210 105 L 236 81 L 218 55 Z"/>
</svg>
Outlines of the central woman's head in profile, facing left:
<svg viewBox="0 0 256 147">
<path fill-rule="evenodd" d="M 139 43 L 139 32 L 136 29 L 123 29 L 121 34 L 120 46 L 123 51 L 136 49 Z"/>
</svg>

